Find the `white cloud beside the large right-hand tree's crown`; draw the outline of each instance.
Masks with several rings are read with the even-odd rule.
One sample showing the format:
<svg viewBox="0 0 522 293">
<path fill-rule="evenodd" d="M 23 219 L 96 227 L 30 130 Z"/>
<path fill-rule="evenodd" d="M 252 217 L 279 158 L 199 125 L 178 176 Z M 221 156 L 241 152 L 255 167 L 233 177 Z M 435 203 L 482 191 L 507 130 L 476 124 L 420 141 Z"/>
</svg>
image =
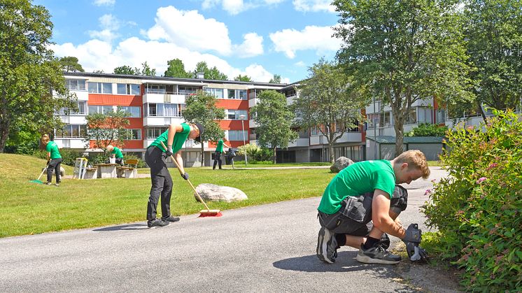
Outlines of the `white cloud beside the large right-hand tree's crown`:
<svg viewBox="0 0 522 293">
<path fill-rule="evenodd" d="M 318 55 L 321 52 L 337 51 L 341 46 L 341 41 L 334 38 L 332 27 L 307 26 L 302 31 L 295 29 L 283 29 L 270 34 L 270 39 L 274 43 L 276 52 L 284 52 L 285 55 L 293 59 L 298 50 L 316 50 Z"/>
</svg>

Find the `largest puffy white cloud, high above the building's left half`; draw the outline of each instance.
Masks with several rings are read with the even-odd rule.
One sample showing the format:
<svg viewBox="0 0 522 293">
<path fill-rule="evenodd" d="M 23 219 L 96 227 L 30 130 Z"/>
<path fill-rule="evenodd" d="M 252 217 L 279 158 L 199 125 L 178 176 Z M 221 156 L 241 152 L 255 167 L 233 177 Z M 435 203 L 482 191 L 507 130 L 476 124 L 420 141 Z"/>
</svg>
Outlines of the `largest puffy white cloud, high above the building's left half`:
<svg viewBox="0 0 522 293">
<path fill-rule="evenodd" d="M 155 26 L 147 31 L 153 41 L 165 40 L 190 50 L 214 50 L 222 55 L 232 52 L 227 26 L 213 18 L 206 19 L 197 10 L 158 8 L 155 21 Z"/>
</svg>

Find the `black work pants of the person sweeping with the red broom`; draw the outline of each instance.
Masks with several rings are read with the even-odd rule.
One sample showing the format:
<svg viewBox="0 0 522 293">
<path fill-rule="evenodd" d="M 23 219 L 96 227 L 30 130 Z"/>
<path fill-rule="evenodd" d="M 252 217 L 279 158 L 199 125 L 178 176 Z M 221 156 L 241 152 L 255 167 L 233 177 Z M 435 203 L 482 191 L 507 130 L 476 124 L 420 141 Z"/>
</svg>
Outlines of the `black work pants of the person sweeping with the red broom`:
<svg viewBox="0 0 522 293">
<path fill-rule="evenodd" d="M 145 152 L 145 162 L 150 167 L 150 196 L 147 203 L 147 220 L 155 220 L 157 203 L 162 199 L 162 217 L 169 217 L 172 195 L 172 178 L 167 169 L 167 155 L 160 148 L 150 147 Z"/>
</svg>

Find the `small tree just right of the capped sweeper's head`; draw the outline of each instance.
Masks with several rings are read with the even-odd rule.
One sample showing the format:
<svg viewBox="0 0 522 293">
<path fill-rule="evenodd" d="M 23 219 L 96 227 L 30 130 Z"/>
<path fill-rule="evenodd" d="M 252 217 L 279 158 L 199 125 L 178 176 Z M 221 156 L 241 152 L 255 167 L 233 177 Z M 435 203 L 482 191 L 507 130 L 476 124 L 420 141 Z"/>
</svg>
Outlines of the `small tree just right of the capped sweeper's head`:
<svg viewBox="0 0 522 293">
<path fill-rule="evenodd" d="M 183 110 L 183 118 L 188 122 L 199 122 L 205 127 L 202 136 L 202 166 L 204 166 L 204 145 L 205 141 L 218 141 L 225 136 L 225 132 L 220 128 L 216 120 L 225 119 L 225 110 L 216 107 L 218 99 L 212 94 L 204 91 L 198 91 L 192 96 L 185 99 L 185 110 Z"/>
</svg>

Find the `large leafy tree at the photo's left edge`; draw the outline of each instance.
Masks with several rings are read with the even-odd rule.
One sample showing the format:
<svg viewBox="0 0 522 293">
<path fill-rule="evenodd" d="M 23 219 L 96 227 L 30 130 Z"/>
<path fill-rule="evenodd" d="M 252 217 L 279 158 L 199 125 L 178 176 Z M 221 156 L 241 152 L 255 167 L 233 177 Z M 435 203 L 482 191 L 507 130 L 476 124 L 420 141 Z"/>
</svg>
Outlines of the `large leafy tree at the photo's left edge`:
<svg viewBox="0 0 522 293">
<path fill-rule="evenodd" d="M 49 50 L 48 10 L 29 0 L 0 0 L 0 152 L 10 131 L 30 133 L 61 128 L 53 115 L 75 108 L 65 88 L 62 66 Z M 55 96 L 51 90 L 54 90 Z M 76 105 L 77 107 L 77 105 Z"/>
</svg>

